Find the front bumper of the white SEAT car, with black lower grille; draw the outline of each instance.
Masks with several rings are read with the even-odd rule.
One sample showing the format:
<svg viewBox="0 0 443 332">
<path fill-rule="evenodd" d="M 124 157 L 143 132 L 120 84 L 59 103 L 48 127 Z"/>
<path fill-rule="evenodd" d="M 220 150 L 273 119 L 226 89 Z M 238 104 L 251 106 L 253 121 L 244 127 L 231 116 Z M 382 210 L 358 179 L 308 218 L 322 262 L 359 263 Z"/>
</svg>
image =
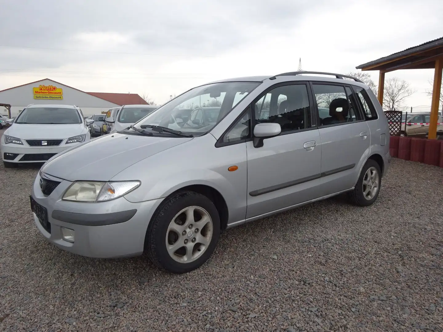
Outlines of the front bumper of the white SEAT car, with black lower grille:
<svg viewBox="0 0 443 332">
<path fill-rule="evenodd" d="M 18 144 L 1 144 L 1 158 L 6 162 L 46 162 L 52 155 L 82 143 L 70 143 L 58 147 L 29 147 Z M 5 153 L 16 154 L 14 159 L 4 158 Z M 49 157 L 49 158 L 48 158 Z"/>
</svg>

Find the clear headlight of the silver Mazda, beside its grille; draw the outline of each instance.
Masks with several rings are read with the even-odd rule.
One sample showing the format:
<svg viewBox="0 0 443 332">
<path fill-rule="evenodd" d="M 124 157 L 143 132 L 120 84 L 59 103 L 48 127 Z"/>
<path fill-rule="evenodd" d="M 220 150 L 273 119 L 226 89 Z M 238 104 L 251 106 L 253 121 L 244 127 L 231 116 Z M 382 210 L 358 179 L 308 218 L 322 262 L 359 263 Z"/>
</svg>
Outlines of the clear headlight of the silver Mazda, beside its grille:
<svg viewBox="0 0 443 332">
<path fill-rule="evenodd" d="M 102 202 L 121 197 L 136 189 L 140 181 L 76 181 L 63 195 L 64 201 Z"/>
</svg>

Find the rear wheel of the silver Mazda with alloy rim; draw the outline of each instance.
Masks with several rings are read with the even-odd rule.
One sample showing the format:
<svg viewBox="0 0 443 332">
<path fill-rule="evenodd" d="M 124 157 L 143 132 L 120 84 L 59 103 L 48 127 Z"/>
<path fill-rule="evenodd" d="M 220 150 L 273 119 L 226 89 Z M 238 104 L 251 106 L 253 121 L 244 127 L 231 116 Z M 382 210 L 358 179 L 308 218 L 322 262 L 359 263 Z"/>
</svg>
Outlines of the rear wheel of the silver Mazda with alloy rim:
<svg viewBox="0 0 443 332">
<path fill-rule="evenodd" d="M 380 187 L 380 166 L 375 160 L 368 159 L 361 169 L 354 190 L 350 193 L 350 200 L 354 205 L 369 206 L 377 200 Z"/>
</svg>

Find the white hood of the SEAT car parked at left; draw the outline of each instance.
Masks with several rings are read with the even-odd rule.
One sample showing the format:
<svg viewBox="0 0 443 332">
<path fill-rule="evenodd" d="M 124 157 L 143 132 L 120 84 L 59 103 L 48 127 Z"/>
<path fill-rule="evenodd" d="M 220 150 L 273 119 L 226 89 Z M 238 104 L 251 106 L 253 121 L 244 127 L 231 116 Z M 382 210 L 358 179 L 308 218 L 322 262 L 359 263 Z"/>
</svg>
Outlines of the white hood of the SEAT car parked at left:
<svg viewBox="0 0 443 332">
<path fill-rule="evenodd" d="M 86 132 L 84 124 L 12 124 L 6 135 L 19 139 L 66 139 Z"/>
</svg>

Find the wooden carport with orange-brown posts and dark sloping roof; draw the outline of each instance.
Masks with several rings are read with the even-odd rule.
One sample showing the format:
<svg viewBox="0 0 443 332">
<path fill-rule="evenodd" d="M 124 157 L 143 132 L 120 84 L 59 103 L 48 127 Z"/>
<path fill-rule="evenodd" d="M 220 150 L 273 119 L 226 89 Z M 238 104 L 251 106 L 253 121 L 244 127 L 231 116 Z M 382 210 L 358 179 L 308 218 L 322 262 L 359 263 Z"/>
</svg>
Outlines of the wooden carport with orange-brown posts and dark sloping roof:
<svg viewBox="0 0 443 332">
<path fill-rule="evenodd" d="M 380 58 L 355 67 L 363 70 L 379 70 L 378 100 L 383 105 L 383 90 L 385 88 L 385 73 L 399 69 L 434 69 L 434 85 L 432 88 L 431 119 L 428 139 L 437 135 L 437 120 L 439 112 L 439 97 L 442 84 L 443 68 L 443 37 L 424 44 L 410 47 L 387 57 Z"/>
</svg>

